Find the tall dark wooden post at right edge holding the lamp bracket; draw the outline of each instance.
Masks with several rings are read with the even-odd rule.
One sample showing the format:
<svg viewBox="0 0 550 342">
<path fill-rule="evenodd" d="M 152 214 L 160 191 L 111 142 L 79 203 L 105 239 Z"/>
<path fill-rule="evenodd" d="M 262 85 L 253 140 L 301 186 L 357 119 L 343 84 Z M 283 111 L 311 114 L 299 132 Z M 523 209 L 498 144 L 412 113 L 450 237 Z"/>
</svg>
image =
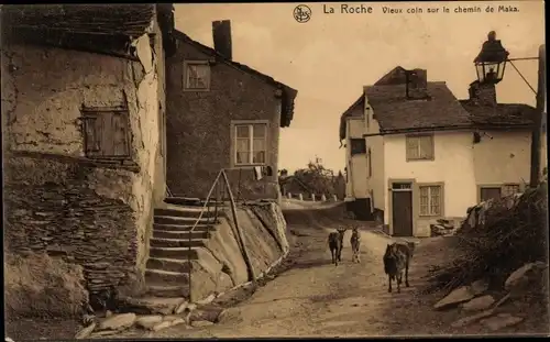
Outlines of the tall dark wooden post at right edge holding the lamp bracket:
<svg viewBox="0 0 550 342">
<path fill-rule="evenodd" d="M 542 111 L 546 98 L 546 45 L 539 47 L 539 81 L 537 87 L 537 110 L 531 133 L 531 175 L 529 186 L 535 188 L 540 180 L 540 139 L 542 131 Z"/>
</svg>

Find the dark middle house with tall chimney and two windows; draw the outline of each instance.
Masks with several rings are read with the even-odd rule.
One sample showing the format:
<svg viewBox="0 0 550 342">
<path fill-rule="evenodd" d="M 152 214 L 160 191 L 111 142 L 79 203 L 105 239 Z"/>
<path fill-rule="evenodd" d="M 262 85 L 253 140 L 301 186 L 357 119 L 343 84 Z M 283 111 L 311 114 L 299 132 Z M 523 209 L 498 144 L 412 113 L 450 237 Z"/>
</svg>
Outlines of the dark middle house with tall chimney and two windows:
<svg viewBox="0 0 550 342">
<path fill-rule="evenodd" d="M 226 169 L 240 199 L 277 199 L 278 139 L 297 91 L 232 59 L 229 21 L 212 23 L 215 48 L 175 32 L 167 58 L 167 184 L 206 198 Z M 254 167 L 268 166 L 261 180 Z"/>
</svg>

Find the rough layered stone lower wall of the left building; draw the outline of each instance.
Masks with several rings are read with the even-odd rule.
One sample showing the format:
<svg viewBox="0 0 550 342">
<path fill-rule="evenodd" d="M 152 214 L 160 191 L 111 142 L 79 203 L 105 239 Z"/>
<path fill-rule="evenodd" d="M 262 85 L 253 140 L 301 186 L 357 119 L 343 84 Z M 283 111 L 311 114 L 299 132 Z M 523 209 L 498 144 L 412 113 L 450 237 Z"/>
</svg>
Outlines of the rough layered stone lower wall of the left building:
<svg viewBox="0 0 550 342">
<path fill-rule="evenodd" d="M 92 293 L 124 284 L 140 243 L 127 186 L 132 174 L 55 155 L 6 156 L 6 252 L 45 252 L 82 265 Z"/>
</svg>

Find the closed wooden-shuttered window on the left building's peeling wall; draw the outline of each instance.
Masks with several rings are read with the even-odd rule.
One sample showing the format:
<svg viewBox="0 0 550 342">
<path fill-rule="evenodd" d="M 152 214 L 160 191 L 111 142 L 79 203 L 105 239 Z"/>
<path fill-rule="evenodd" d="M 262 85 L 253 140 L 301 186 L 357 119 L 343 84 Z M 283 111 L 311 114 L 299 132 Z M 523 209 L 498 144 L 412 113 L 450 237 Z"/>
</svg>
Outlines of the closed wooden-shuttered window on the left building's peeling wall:
<svg viewBox="0 0 550 342">
<path fill-rule="evenodd" d="M 89 158 L 129 158 L 129 113 L 120 109 L 82 110 L 84 146 Z"/>
</svg>

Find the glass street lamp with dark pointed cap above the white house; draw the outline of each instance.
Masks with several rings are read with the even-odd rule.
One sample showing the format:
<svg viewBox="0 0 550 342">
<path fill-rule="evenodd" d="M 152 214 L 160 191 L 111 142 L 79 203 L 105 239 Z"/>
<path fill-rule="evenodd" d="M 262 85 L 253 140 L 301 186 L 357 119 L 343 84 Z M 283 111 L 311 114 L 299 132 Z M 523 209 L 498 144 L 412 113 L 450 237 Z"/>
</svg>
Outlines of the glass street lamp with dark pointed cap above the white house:
<svg viewBox="0 0 550 342">
<path fill-rule="evenodd" d="M 483 43 L 482 51 L 474 59 L 480 84 L 496 85 L 503 80 L 508 54 L 501 41 L 496 40 L 496 32 L 491 31 L 487 34 L 487 41 Z"/>
</svg>

